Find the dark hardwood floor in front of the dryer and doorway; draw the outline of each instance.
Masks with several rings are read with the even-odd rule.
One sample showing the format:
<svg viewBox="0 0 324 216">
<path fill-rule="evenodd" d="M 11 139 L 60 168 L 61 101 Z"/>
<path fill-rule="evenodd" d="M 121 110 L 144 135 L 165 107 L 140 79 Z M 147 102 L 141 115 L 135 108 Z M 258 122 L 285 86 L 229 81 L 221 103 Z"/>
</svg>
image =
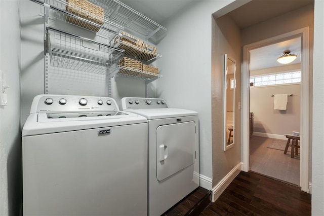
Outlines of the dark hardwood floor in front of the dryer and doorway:
<svg viewBox="0 0 324 216">
<path fill-rule="evenodd" d="M 311 215 L 310 194 L 254 172 L 241 171 L 214 203 L 210 198 L 199 187 L 164 215 Z"/>
</svg>

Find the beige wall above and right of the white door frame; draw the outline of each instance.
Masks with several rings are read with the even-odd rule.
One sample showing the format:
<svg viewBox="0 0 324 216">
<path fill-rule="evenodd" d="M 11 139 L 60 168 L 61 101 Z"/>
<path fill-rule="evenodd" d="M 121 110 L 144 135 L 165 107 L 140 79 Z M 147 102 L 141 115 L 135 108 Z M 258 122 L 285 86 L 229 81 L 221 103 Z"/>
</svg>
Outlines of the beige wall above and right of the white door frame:
<svg viewBox="0 0 324 216">
<path fill-rule="evenodd" d="M 242 29 L 242 46 L 262 41 L 276 35 L 309 26 L 309 125 L 312 125 L 312 89 L 313 89 L 313 37 L 314 37 L 314 5 L 310 4 L 290 13 L 274 17 L 265 22 Z M 309 128 L 309 181 L 311 182 L 312 167 L 312 127 Z"/>
</svg>

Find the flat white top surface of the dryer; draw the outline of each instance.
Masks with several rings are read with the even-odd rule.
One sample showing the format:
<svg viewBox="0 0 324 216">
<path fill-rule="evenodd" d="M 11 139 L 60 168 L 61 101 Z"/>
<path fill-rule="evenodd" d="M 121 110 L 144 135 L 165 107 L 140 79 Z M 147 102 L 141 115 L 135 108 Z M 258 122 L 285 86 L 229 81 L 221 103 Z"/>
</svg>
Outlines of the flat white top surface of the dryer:
<svg viewBox="0 0 324 216">
<path fill-rule="evenodd" d="M 198 115 L 198 113 L 195 111 L 183 110 L 183 109 L 173 109 L 173 108 L 134 109 L 134 110 L 128 109 L 125 111 L 144 116 L 148 120 L 174 118 L 174 117 L 182 117 L 182 116 L 197 116 Z"/>
</svg>

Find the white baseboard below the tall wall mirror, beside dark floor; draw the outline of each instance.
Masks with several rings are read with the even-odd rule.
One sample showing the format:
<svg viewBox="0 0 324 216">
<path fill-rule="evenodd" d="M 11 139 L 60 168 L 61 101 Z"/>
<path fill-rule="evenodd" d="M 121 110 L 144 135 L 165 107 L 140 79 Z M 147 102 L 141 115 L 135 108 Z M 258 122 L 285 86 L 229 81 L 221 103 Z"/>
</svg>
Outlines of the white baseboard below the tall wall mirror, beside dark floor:
<svg viewBox="0 0 324 216">
<path fill-rule="evenodd" d="M 214 188 L 212 201 L 215 202 L 217 198 L 225 191 L 227 186 L 233 181 L 236 175 L 241 171 L 242 163 L 238 163 Z"/>
</svg>

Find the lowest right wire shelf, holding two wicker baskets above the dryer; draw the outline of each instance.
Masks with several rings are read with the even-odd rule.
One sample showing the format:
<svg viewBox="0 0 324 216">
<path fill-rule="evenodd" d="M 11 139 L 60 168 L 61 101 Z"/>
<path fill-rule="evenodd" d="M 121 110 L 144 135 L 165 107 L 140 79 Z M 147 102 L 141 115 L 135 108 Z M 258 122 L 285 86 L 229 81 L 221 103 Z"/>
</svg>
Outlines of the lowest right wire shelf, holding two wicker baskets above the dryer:
<svg viewBox="0 0 324 216">
<path fill-rule="evenodd" d="M 162 75 L 159 74 L 154 74 L 147 71 L 133 69 L 130 67 L 125 67 L 116 64 L 109 68 L 109 75 L 111 77 L 113 76 L 130 77 L 130 78 L 136 78 L 142 80 L 151 80 L 151 79 L 163 77 Z"/>
</svg>

